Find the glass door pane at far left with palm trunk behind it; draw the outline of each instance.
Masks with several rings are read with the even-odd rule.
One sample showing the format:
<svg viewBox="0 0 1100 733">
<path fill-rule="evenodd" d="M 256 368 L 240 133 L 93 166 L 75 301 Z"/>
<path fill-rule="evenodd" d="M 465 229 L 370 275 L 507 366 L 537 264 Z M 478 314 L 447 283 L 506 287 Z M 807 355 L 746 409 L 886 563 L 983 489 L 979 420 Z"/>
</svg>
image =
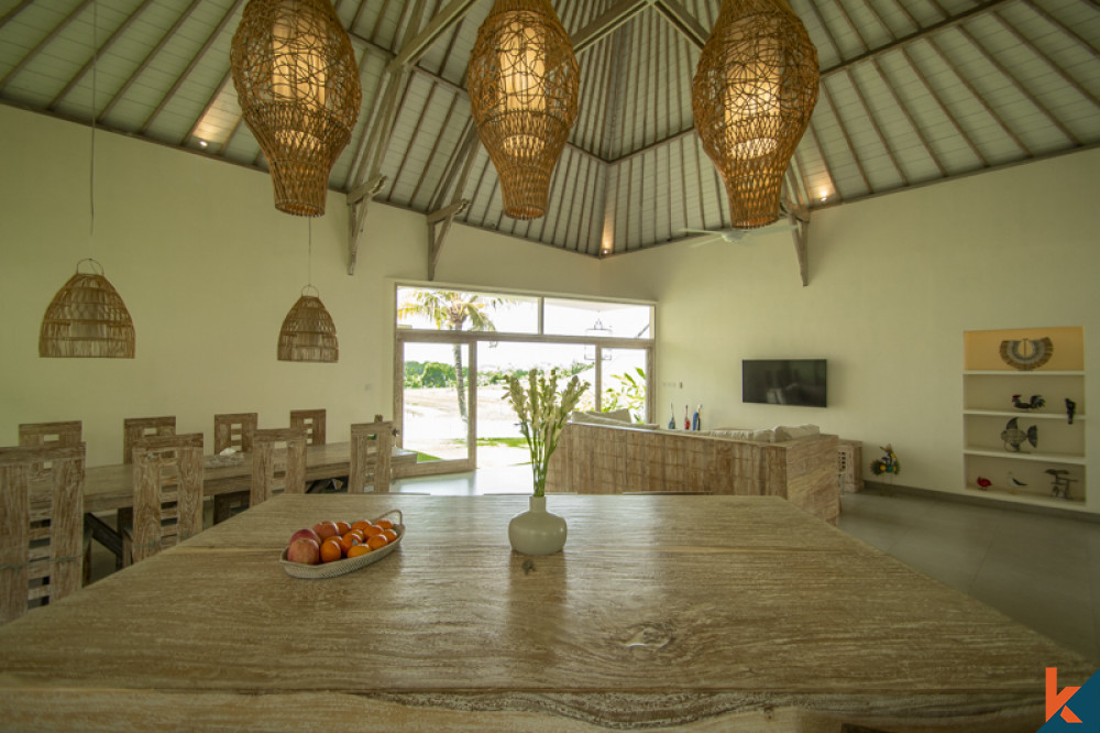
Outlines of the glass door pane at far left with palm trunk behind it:
<svg viewBox="0 0 1100 733">
<path fill-rule="evenodd" d="M 420 453 L 419 462 L 470 457 L 469 364 L 465 344 L 405 344 L 402 439 L 406 450 Z"/>
</svg>

